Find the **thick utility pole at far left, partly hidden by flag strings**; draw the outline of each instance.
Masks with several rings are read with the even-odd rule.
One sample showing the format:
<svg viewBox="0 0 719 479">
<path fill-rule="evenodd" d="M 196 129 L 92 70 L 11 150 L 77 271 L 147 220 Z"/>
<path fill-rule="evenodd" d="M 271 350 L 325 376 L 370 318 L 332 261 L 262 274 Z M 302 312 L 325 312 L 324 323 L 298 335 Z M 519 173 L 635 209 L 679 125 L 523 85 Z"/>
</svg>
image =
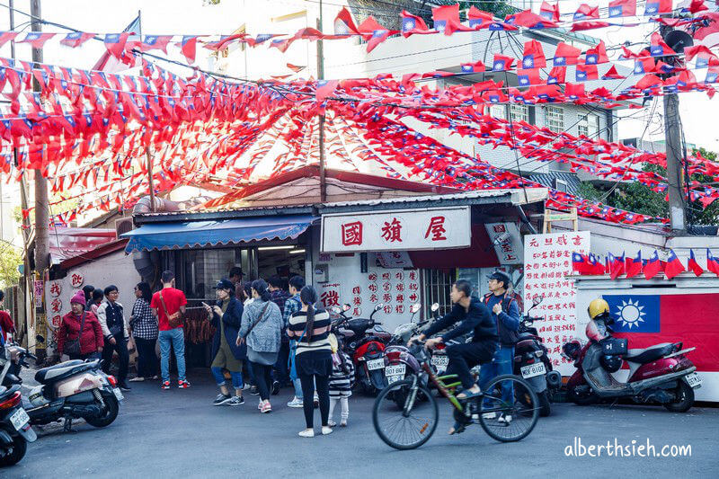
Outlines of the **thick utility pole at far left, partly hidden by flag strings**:
<svg viewBox="0 0 719 479">
<path fill-rule="evenodd" d="M 40 0 L 30 2 L 31 31 L 42 31 L 40 23 Z M 34 67 L 39 68 L 42 63 L 42 49 L 32 49 Z M 32 78 L 32 90 L 40 92 L 40 84 Z M 35 271 L 41 275 L 49 268 L 49 200 L 48 181 L 42 176 L 40 170 L 35 170 Z M 41 278 L 44 279 L 44 278 Z"/>
</svg>

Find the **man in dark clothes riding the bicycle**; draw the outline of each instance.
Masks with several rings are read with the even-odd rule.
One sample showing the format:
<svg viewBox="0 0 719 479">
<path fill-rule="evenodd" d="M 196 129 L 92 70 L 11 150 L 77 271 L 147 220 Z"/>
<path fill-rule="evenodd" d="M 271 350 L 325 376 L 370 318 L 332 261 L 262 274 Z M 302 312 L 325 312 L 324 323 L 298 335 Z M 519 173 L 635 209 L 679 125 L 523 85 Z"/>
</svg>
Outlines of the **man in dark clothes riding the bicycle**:
<svg viewBox="0 0 719 479">
<path fill-rule="evenodd" d="M 457 322 L 459 322 L 457 327 L 448 331 L 448 333 L 444 333 L 438 338 L 427 340 L 426 347 L 434 349 L 439 342 L 448 342 L 453 338 L 474 331 L 475 335 L 472 342 L 453 344 L 447 347 L 449 362 L 446 374 L 456 374 L 459 377 L 465 391 L 457 397 L 465 399 L 478 395 L 480 392 L 470 369 L 477 364 L 484 364 L 492 360 L 499 342 L 497 324 L 490 315 L 487 306 L 484 306 L 478 297 L 472 296 L 472 285 L 469 281 L 459 279 L 452 286 L 449 297 L 454 305 L 452 310 L 448 315 L 439 318 L 425 329 L 424 333 L 420 334 L 420 341 L 447 329 Z"/>
</svg>

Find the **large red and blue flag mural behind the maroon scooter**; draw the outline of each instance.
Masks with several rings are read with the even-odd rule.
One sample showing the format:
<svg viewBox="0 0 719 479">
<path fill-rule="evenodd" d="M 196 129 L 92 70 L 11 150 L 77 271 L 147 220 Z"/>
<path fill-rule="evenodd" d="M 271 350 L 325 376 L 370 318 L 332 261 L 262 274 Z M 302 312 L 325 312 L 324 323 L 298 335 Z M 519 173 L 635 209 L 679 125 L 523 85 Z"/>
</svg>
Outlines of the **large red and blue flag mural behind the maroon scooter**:
<svg viewBox="0 0 719 479">
<path fill-rule="evenodd" d="M 629 340 L 629 349 L 682 342 L 684 348 L 697 348 L 688 353 L 697 371 L 719 371 L 719 294 L 603 297 L 615 336 Z"/>
</svg>

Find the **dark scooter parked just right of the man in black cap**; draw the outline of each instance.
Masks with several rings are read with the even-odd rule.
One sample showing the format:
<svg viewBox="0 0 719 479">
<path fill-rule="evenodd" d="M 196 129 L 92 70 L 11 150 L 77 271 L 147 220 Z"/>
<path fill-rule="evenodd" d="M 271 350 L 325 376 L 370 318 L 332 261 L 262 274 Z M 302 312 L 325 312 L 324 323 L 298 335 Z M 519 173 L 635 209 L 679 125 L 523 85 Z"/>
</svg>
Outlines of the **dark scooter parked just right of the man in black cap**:
<svg viewBox="0 0 719 479">
<path fill-rule="evenodd" d="M 539 414 L 548 416 L 551 412 L 549 405 L 555 392 L 562 386 L 562 375 L 552 368 L 548 351 L 544 345 L 537 328 L 532 324 L 544 318 L 532 317 L 532 309 L 542 302 L 543 297 L 536 296 L 532 300 L 532 307 L 519 323 L 519 338 L 514 346 L 513 373 L 527 380 L 532 386 L 539 400 Z"/>
</svg>

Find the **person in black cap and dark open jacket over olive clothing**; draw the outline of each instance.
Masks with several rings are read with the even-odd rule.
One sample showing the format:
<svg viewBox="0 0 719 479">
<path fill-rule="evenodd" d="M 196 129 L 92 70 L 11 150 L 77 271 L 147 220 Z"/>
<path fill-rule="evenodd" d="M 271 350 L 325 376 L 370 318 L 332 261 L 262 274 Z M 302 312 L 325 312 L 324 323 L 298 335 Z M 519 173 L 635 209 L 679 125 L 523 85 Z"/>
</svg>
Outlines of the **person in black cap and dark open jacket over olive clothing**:
<svg viewBox="0 0 719 479">
<path fill-rule="evenodd" d="M 246 347 L 235 344 L 235 338 L 242 324 L 243 306 L 235 297 L 235 285 L 229 279 L 220 279 L 215 288 L 217 303 L 214 306 L 202 304 L 208 312 L 209 322 L 217 328 L 212 338 L 212 355 L 215 359 L 212 360 L 210 370 L 217 380 L 220 393 L 212 404 L 238 406 L 244 404 L 242 361 L 247 358 Z M 235 387 L 234 396 L 229 393 L 222 373 L 223 368 L 227 369 L 232 377 L 232 386 Z"/>
</svg>

